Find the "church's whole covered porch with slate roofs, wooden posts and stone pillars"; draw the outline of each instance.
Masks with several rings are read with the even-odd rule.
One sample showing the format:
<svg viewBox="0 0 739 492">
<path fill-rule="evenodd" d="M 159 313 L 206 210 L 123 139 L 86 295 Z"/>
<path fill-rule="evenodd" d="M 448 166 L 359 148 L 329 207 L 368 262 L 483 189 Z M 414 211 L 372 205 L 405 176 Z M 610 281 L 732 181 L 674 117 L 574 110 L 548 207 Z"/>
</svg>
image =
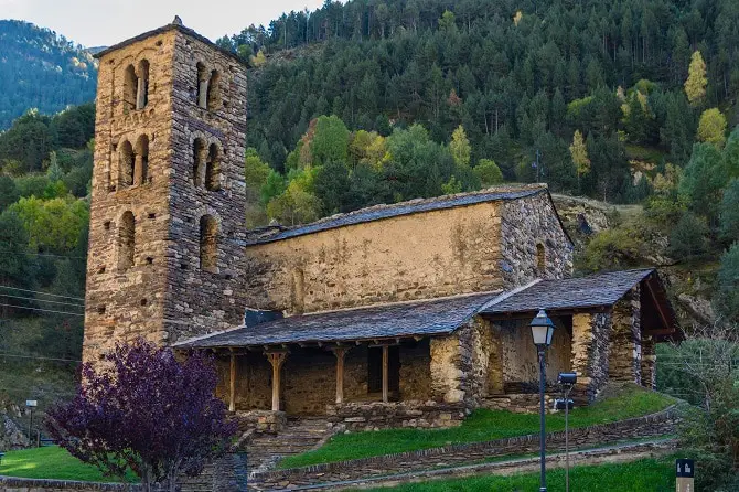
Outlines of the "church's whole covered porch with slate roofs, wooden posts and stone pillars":
<svg viewBox="0 0 739 492">
<path fill-rule="evenodd" d="M 581 403 L 609 379 L 653 387 L 654 344 L 681 334 L 656 272 L 629 270 L 289 318 L 248 310 L 243 327 L 175 347 L 215 354 L 234 413 L 445 427 L 480 406 L 536 408 L 521 395 L 538 388 L 528 322 L 540 307 L 556 325 L 549 386 L 577 372 Z"/>
</svg>

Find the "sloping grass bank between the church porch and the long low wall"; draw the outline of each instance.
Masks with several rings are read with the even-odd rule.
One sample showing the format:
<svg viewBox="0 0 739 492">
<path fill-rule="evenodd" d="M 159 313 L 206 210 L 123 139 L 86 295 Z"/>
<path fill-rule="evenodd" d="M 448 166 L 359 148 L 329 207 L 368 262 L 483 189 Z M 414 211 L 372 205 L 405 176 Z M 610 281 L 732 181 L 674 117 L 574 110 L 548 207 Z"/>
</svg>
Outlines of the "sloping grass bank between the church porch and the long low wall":
<svg viewBox="0 0 739 492">
<path fill-rule="evenodd" d="M 666 395 L 628 386 L 613 396 L 570 413 L 570 427 L 587 427 L 652 414 L 675 400 Z M 537 432 L 537 414 L 514 414 L 502 410 L 475 410 L 459 427 L 450 429 L 388 429 L 341 434 L 320 449 L 280 461 L 280 468 L 303 467 L 394 452 L 415 451 L 451 443 L 482 442 Z M 547 430 L 563 430 L 565 415 L 547 415 Z"/>
</svg>

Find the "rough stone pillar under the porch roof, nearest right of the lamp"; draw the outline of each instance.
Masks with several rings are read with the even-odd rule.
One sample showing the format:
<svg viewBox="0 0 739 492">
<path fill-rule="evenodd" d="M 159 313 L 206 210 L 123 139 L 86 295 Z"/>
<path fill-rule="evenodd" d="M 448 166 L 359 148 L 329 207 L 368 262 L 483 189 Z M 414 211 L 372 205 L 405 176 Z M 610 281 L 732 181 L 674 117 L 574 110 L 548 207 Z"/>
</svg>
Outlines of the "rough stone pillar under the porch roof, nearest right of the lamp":
<svg viewBox="0 0 739 492">
<path fill-rule="evenodd" d="M 572 371 L 577 373 L 576 396 L 592 402 L 608 381 L 609 324 L 606 313 L 572 315 Z"/>
</svg>

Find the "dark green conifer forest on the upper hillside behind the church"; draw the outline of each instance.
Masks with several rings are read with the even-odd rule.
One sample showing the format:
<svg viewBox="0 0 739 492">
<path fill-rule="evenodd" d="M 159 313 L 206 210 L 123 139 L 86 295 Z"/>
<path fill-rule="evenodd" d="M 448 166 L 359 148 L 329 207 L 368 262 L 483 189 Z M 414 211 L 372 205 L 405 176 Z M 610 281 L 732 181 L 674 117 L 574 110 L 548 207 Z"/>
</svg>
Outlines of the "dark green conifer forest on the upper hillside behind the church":
<svg viewBox="0 0 739 492">
<path fill-rule="evenodd" d="M 555 190 L 636 201 L 629 160 L 683 165 L 704 109 L 737 121 L 732 0 L 326 2 L 218 42 L 255 68 L 248 141 L 280 171 L 320 115 L 381 136 L 420 124 L 438 143 L 462 125 L 472 165 L 532 181 L 538 154 Z M 696 52 L 707 85 L 688 96 Z M 588 172 L 571 165 L 576 130 Z"/>
</svg>

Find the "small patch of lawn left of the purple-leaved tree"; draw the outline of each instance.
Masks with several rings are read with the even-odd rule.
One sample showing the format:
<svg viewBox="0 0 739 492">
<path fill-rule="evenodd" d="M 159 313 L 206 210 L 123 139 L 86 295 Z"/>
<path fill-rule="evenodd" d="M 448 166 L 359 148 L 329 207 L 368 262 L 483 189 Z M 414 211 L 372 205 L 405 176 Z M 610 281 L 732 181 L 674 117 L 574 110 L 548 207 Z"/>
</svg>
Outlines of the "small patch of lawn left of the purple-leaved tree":
<svg viewBox="0 0 739 492">
<path fill-rule="evenodd" d="M 88 482 L 118 481 L 103 475 L 97 468 L 83 463 L 56 446 L 7 452 L 0 464 L 0 475 Z M 136 481 L 136 477 L 131 473 L 127 480 Z"/>
</svg>

